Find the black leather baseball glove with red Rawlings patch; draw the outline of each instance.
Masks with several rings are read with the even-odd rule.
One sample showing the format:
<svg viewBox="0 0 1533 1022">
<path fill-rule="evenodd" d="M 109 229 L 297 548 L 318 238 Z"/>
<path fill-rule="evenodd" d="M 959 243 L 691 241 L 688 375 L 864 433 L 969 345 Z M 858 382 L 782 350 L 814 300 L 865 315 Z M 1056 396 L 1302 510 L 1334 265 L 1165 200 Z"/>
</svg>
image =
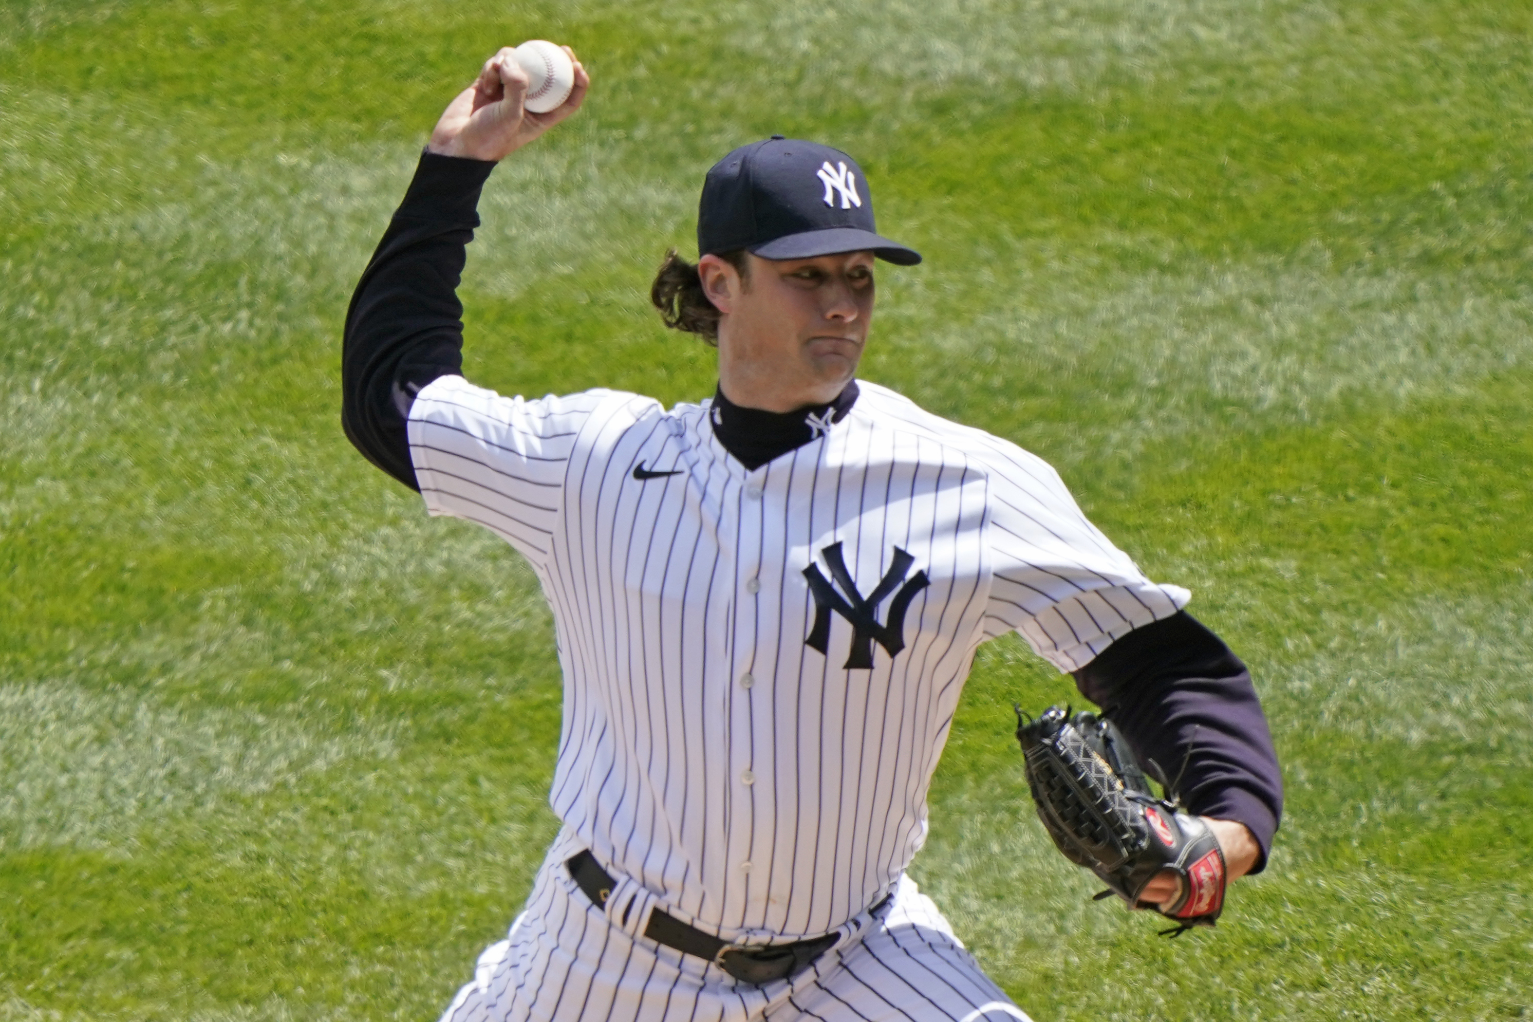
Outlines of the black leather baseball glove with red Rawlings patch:
<svg viewBox="0 0 1533 1022">
<path fill-rule="evenodd" d="M 1173 792 L 1156 798 L 1128 743 L 1110 720 L 1050 706 L 1030 719 L 1016 709 L 1016 740 L 1027 760 L 1027 785 L 1049 837 L 1072 863 L 1136 909 L 1154 909 L 1177 922 L 1173 936 L 1214 925 L 1225 902 L 1225 857 L 1206 823 L 1185 812 Z M 1160 778 L 1162 785 L 1165 778 Z M 1180 892 L 1162 909 L 1141 901 L 1164 869 Z"/>
</svg>

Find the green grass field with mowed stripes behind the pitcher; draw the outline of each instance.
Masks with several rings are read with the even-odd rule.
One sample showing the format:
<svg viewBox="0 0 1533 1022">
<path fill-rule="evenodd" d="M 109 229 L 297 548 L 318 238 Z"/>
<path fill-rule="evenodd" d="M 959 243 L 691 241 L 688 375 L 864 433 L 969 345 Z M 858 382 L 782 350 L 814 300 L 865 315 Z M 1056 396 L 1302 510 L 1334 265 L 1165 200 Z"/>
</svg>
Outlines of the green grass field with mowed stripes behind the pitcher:
<svg viewBox="0 0 1533 1022">
<path fill-rule="evenodd" d="M 704 170 L 857 153 L 863 375 L 1053 461 L 1252 665 L 1268 872 L 1176 942 L 1032 817 L 981 651 L 914 873 L 1039 1022 L 1533 1017 L 1533 3 L 0 2 L 0 1019 L 434 1019 L 555 821 L 547 610 L 339 427 L 346 299 L 501 43 L 468 371 L 711 392 Z"/>
</svg>

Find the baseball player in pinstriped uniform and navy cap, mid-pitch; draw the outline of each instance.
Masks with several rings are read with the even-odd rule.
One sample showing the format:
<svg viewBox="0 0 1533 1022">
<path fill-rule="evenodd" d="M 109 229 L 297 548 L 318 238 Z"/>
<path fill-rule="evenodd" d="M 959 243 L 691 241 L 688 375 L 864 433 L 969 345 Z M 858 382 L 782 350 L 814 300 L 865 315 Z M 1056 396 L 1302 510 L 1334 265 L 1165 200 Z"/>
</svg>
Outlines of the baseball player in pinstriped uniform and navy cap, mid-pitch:
<svg viewBox="0 0 1533 1022">
<path fill-rule="evenodd" d="M 573 54 L 572 54 L 573 57 Z M 491 529 L 553 608 L 563 821 L 446 1022 L 1026 1019 L 904 869 L 981 642 L 1019 631 L 1177 765 L 1229 878 L 1282 807 L 1249 674 L 1039 458 L 854 378 L 877 233 L 862 169 L 773 136 L 702 187 L 653 300 L 717 346 L 710 400 L 501 397 L 455 288 L 523 110 L 510 51 L 448 106 L 346 317 L 343 424 L 432 515 Z M 1173 898 L 1160 876 L 1144 895 Z"/>
</svg>

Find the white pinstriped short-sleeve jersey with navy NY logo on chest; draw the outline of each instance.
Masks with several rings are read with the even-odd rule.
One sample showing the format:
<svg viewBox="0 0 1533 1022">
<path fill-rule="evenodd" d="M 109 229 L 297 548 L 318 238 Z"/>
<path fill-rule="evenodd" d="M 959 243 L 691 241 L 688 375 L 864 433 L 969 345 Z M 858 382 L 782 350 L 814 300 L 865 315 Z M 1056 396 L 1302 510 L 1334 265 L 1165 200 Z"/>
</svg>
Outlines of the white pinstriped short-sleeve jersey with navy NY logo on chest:
<svg viewBox="0 0 1533 1022">
<path fill-rule="evenodd" d="M 863 383 L 747 470 L 708 403 L 504 398 L 442 377 L 411 457 L 553 608 L 564 722 L 553 855 L 725 939 L 825 933 L 898 881 L 977 647 L 1062 671 L 1174 614 L 1044 461 Z"/>
</svg>

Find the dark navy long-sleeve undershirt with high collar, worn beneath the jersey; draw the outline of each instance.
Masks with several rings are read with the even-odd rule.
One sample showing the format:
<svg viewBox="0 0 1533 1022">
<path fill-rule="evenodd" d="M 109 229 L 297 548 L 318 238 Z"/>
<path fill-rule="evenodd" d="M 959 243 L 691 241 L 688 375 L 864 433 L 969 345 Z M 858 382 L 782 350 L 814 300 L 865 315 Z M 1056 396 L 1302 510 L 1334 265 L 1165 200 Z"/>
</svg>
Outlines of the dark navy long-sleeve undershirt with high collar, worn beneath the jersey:
<svg viewBox="0 0 1533 1022">
<path fill-rule="evenodd" d="M 411 489 L 419 486 L 406 437 L 409 406 L 428 383 L 463 369 L 457 287 L 480 224 L 480 190 L 494 167 L 423 153 L 346 313 L 342 426 L 368 461 Z M 852 383 L 834 403 L 835 418 L 855 398 Z M 812 435 L 802 411 L 780 418 L 736 409 L 722 417 L 721 443 L 765 464 L 776 457 L 774 435 L 783 444 L 777 454 Z M 736 429 L 750 435 L 733 435 Z M 1251 674 L 1219 636 L 1182 611 L 1118 639 L 1073 677 L 1139 758 L 1177 783 L 1188 809 L 1249 827 L 1262 847 L 1257 870 L 1265 867 L 1283 812 L 1283 780 Z"/>
</svg>

